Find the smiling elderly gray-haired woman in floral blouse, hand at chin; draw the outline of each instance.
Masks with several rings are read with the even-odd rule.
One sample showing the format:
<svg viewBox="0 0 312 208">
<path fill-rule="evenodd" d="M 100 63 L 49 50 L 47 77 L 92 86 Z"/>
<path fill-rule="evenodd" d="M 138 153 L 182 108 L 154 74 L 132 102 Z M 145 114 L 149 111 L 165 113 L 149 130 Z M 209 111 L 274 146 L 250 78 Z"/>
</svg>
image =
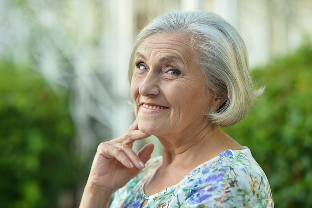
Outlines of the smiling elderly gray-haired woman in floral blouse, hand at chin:
<svg viewBox="0 0 312 208">
<path fill-rule="evenodd" d="M 219 128 L 241 121 L 261 93 L 230 24 L 209 12 L 157 17 L 137 37 L 129 79 L 136 120 L 99 145 L 81 208 L 273 207 L 250 150 Z M 162 145 L 151 160 L 153 144 L 132 150 L 150 135 Z"/>
</svg>

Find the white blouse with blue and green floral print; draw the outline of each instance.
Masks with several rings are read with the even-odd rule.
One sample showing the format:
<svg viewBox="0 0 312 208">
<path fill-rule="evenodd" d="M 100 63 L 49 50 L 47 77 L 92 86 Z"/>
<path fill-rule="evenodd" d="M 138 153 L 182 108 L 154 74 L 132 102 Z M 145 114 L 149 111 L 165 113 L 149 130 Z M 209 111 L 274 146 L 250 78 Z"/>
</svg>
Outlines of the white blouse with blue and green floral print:
<svg viewBox="0 0 312 208">
<path fill-rule="evenodd" d="M 273 208 L 268 179 L 249 148 L 225 150 L 199 165 L 179 183 L 154 195 L 144 184 L 161 164 L 151 159 L 146 168 L 114 194 L 110 208 Z"/>
</svg>

